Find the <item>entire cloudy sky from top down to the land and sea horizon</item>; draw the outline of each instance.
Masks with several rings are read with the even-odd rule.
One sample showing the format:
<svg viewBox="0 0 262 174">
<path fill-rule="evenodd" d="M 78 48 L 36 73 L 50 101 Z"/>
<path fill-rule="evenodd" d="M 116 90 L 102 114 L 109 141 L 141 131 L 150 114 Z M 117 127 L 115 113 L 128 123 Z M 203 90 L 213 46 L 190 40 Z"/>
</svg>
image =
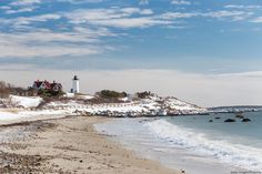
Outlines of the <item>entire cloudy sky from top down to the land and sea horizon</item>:
<svg viewBox="0 0 262 174">
<path fill-rule="evenodd" d="M 21 86 L 262 105 L 261 47 L 261 0 L 0 1 L 0 80 Z"/>
</svg>

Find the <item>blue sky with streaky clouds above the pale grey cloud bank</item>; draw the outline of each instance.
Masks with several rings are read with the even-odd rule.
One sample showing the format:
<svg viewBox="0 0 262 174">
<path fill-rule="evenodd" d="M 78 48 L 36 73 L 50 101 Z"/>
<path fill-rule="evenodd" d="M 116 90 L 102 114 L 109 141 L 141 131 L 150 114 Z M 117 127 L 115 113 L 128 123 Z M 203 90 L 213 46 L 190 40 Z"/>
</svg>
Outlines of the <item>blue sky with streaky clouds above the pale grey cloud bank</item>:
<svg viewBox="0 0 262 174">
<path fill-rule="evenodd" d="M 259 0 L 4 0 L 1 64 L 47 69 L 262 69 Z"/>
</svg>

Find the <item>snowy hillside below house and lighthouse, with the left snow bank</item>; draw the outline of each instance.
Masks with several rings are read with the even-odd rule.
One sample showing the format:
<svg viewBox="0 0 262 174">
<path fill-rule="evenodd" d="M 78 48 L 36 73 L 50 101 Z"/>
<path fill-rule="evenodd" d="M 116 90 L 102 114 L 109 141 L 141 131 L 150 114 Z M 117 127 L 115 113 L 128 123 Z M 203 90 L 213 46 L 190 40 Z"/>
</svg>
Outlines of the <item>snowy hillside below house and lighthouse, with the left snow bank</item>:
<svg viewBox="0 0 262 174">
<path fill-rule="evenodd" d="M 62 100 L 46 101 L 41 98 L 26 98 L 10 95 L 2 101 L 8 108 L 22 108 L 24 110 L 59 111 L 67 114 L 104 115 L 104 116 L 161 116 L 204 114 L 206 110 L 177 98 L 160 98 L 149 95 L 144 99 L 119 99 L 115 103 L 104 103 L 101 99 L 67 98 Z M 95 101 L 95 102 L 93 102 Z"/>
</svg>

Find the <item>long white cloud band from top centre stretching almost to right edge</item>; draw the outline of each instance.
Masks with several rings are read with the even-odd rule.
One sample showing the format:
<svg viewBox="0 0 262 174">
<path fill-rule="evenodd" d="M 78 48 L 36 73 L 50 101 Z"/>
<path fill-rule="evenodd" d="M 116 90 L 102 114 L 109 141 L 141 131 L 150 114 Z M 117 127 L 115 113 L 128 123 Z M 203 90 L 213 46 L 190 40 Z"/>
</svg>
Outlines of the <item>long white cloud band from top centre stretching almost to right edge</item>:
<svg viewBox="0 0 262 174">
<path fill-rule="evenodd" d="M 151 9 L 110 8 L 110 9 L 79 9 L 62 14 L 73 24 L 89 23 L 114 28 L 147 28 L 153 25 L 171 25 L 179 19 L 194 17 L 216 18 L 219 20 L 240 21 L 253 16 L 253 12 L 242 10 L 220 10 L 208 12 L 164 12 L 153 13 Z"/>
</svg>

